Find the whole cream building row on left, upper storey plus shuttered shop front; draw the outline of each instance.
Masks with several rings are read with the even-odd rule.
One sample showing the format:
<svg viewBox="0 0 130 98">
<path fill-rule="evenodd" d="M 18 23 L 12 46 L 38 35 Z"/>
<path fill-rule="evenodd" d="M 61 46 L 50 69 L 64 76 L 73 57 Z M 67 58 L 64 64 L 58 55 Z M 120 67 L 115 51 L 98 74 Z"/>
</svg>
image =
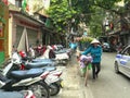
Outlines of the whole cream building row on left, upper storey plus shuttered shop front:
<svg viewBox="0 0 130 98">
<path fill-rule="evenodd" d="M 26 1 L 26 2 L 25 2 Z M 60 44 L 63 39 L 52 28 L 46 26 L 46 9 L 50 0 L 9 0 L 9 56 L 13 46 L 17 50 L 28 50 L 29 46 Z"/>
</svg>

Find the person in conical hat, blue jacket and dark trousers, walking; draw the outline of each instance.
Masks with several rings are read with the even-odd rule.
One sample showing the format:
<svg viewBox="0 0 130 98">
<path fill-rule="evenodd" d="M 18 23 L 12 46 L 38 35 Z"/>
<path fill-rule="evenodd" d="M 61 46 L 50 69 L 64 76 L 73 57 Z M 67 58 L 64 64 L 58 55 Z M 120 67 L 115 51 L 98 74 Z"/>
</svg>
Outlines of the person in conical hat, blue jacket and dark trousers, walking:
<svg viewBox="0 0 130 98">
<path fill-rule="evenodd" d="M 82 54 L 90 53 L 93 61 L 92 61 L 92 76 L 93 79 L 98 77 L 99 72 L 101 71 L 101 57 L 102 57 L 102 47 L 100 46 L 100 41 L 98 39 L 93 39 L 91 41 L 91 46 L 86 49 Z"/>
</svg>

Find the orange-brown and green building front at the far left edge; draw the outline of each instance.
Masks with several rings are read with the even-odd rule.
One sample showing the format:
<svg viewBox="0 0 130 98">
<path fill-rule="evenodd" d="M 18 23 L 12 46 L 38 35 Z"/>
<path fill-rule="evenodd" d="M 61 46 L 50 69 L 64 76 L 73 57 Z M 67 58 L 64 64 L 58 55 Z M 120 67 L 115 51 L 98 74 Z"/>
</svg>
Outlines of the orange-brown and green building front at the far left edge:
<svg viewBox="0 0 130 98">
<path fill-rule="evenodd" d="M 0 1 L 0 64 L 9 57 L 9 8 Z"/>
</svg>

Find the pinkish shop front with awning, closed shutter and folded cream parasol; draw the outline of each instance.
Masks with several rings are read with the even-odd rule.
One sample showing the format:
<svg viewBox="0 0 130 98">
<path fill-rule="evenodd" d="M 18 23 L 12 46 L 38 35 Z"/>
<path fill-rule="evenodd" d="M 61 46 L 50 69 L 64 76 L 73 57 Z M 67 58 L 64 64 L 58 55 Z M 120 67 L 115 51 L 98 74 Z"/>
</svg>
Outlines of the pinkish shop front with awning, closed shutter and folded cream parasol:
<svg viewBox="0 0 130 98">
<path fill-rule="evenodd" d="M 43 25 L 42 23 L 21 12 L 10 11 L 10 14 L 13 19 L 11 30 L 12 46 L 15 46 L 18 51 L 26 51 L 29 46 L 36 47 L 37 41 L 42 44 L 42 32 L 40 28 Z"/>
</svg>

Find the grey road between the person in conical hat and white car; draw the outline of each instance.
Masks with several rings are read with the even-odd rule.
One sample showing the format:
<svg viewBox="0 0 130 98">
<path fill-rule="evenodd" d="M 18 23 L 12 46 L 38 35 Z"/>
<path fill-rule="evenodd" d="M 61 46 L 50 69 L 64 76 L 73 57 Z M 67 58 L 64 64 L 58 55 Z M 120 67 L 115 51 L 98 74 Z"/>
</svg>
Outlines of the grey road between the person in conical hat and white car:
<svg viewBox="0 0 130 98">
<path fill-rule="evenodd" d="M 114 71 L 115 53 L 103 53 L 102 71 L 95 82 L 89 82 L 93 98 L 130 98 L 130 79 Z"/>
</svg>

